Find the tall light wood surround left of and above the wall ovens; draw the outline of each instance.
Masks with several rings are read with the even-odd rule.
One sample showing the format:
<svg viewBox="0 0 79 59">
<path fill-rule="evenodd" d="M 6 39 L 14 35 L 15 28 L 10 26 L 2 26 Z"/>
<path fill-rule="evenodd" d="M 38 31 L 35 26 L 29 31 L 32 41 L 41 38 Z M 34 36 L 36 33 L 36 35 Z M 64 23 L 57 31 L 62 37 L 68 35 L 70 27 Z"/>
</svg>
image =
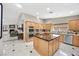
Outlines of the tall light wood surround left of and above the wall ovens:
<svg viewBox="0 0 79 59">
<path fill-rule="evenodd" d="M 35 27 L 35 23 L 32 21 L 25 21 L 24 22 L 24 41 L 25 42 L 29 42 L 31 41 L 30 37 L 29 37 L 29 28 L 30 27 Z"/>
</svg>

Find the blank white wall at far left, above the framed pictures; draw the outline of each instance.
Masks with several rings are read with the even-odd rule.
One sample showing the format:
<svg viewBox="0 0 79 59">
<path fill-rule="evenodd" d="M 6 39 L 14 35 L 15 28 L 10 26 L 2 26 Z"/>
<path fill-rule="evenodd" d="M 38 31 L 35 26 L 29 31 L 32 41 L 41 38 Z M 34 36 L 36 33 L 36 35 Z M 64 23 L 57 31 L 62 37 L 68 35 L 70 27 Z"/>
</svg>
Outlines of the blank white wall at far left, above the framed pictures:
<svg viewBox="0 0 79 59">
<path fill-rule="evenodd" d="M 8 4 L 3 4 L 3 24 L 17 24 L 19 13 L 16 12 L 13 6 L 9 6 Z"/>
</svg>

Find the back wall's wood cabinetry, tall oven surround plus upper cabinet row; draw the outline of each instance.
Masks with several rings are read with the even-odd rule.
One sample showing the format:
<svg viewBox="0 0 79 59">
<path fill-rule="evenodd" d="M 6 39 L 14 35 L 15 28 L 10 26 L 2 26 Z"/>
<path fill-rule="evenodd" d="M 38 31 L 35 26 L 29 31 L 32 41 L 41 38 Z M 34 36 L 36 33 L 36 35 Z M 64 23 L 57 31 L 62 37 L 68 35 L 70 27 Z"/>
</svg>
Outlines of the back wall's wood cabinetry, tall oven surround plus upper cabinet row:
<svg viewBox="0 0 79 59">
<path fill-rule="evenodd" d="M 29 27 L 33 27 L 34 33 L 36 29 L 40 30 L 39 32 L 42 32 L 43 29 L 45 30 L 51 30 L 52 24 L 43 24 L 43 23 L 35 23 L 32 21 L 25 21 L 24 22 L 24 41 L 28 42 L 31 41 L 29 38 Z"/>
</svg>

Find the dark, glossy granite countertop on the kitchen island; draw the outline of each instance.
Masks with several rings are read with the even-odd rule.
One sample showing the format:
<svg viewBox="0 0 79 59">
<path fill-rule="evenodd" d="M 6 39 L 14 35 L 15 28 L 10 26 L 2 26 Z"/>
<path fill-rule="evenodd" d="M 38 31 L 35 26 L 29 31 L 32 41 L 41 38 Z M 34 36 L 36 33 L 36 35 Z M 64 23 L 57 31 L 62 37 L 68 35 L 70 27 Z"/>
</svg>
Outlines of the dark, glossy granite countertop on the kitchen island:
<svg viewBox="0 0 79 59">
<path fill-rule="evenodd" d="M 56 35 L 56 34 L 36 34 L 35 35 L 35 37 L 43 39 L 45 41 L 51 41 L 59 36 L 60 35 Z"/>
</svg>

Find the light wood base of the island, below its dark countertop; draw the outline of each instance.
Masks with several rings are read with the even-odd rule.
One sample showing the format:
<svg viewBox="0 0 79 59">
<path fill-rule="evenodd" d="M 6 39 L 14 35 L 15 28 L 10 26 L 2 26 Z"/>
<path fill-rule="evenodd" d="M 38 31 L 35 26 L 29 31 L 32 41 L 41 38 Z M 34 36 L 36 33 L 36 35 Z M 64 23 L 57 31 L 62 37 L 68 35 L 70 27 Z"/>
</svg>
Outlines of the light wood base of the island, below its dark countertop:
<svg viewBox="0 0 79 59">
<path fill-rule="evenodd" d="M 34 49 L 42 56 L 52 56 L 59 48 L 59 37 L 46 41 L 41 38 L 33 38 Z"/>
</svg>

